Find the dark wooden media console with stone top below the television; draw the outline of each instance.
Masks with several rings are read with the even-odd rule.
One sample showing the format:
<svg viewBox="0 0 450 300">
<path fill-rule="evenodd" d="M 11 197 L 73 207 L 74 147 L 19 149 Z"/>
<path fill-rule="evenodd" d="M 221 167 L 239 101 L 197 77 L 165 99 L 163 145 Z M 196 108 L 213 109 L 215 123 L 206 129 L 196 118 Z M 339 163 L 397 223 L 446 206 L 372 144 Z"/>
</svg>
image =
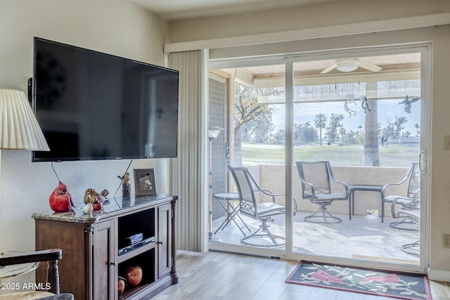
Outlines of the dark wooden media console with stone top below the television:
<svg viewBox="0 0 450 300">
<path fill-rule="evenodd" d="M 36 249 L 63 249 L 58 263 L 60 290 L 75 299 L 150 299 L 178 282 L 175 208 L 178 196 L 110 199 L 102 211 L 33 214 Z M 141 267 L 142 280 L 117 292 L 129 267 Z M 46 269 L 36 281 L 45 282 Z"/>
</svg>

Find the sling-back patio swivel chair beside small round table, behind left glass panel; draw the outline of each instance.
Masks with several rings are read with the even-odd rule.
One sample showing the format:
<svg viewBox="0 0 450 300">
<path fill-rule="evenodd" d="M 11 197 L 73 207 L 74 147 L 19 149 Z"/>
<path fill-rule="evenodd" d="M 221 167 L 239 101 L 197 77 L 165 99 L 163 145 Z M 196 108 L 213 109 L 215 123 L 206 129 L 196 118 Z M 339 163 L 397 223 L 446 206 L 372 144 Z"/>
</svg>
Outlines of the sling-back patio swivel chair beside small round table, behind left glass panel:
<svg viewBox="0 0 450 300">
<path fill-rule="evenodd" d="M 268 222 L 274 222 L 273 216 L 285 214 L 285 207 L 275 203 L 275 197 L 285 194 L 274 194 L 269 190 L 262 190 L 257 185 L 255 179 L 245 167 L 229 167 L 234 182 L 238 188 L 239 195 L 239 213 L 259 220 L 261 225 L 255 232 L 240 239 L 240 242 L 255 247 L 282 247 L 285 245 L 285 237 L 274 235 L 269 231 Z M 257 202 L 255 192 L 269 195 L 271 202 Z M 269 238 L 269 240 L 267 240 Z M 255 239 L 261 239 L 261 242 L 250 242 Z M 264 242 L 264 239 L 266 242 Z M 281 240 L 280 242 L 278 242 Z"/>
</svg>

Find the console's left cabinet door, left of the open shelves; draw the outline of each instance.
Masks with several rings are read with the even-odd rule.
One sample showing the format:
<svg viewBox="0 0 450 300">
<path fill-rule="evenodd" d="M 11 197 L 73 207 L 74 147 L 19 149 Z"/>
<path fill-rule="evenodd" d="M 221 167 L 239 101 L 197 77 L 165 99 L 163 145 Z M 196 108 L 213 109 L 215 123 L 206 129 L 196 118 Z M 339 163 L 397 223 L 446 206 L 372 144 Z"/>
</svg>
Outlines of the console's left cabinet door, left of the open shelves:
<svg viewBox="0 0 450 300">
<path fill-rule="evenodd" d="M 114 221 L 105 221 L 94 226 L 92 296 L 94 300 L 115 299 L 117 281 L 115 274 Z M 116 276 L 117 277 L 117 276 Z M 86 279 L 87 280 L 87 279 Z M 115 282 L 115 285 L 113 285 Z"/>
</svg>

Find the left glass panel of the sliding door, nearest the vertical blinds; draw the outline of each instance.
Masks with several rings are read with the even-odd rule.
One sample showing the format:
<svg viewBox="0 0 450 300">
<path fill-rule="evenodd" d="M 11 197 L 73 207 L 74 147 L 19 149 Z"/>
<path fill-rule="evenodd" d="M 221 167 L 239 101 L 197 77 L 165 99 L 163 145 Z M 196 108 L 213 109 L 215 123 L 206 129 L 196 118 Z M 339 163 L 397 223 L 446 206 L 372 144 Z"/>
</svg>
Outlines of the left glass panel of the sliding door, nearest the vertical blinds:
<svg viewBox="0 0 450 300">
<path fill-rule="evenodd" d="M 226 136 L 228 188 L 212 195 L 211 249 L 280 253 L 285 249 L 285 103 L 284 77 L 281 86 L 264 86 L 259 75 L 284 74 L 285 64 L 249 65 L 213 70 L 210 78 L 228 78 L 230 97 Z M 212 105 L 210 93 L 210 105 Z M 217 102 L 214 100 L 214 102 Z M 210 106 L 211 107 L 211 106 Z M 210 116 L 211 116 L 210 108 Z M 214 162 L 213 162 L 214 164 Z M 245 174 L 239 173 L 245 168 Z M 236 176 L 233 177 L 233 171 Z M 242 178 L 241 182 L 236 182 Z M 251 186 L 251 188 L 250 188 Z M 252 193 L 245 193 L 245 190 Z M 245 194 L 241 205 L 239 191 Z M 236 194 L 236 195 L 233 195 Z M 242 249 L 246 248 L 246 249 Z"/>
</svg>

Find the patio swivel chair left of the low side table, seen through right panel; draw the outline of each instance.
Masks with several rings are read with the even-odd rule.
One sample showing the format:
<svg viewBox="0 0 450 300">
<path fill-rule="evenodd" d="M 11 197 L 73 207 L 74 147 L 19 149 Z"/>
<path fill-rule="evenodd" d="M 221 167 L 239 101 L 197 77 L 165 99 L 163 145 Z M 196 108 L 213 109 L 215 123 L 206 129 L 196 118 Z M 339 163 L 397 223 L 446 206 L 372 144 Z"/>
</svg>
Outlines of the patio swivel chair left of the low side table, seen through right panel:
<svg viewBox="0 0 450 300">
<path fill-rule="evenodd" d="M 314 223 L 342 222 L 342 219 L 330 214 L 326 207 L 334 201 L 348 200 L 349 188 L 347 183 L 336 180 L 330 162 L 295 162 L 295 164 L 297 164 L 300 181 L 302 181 L 303 199 L 308 199 L 320 206 L 314 214 L 305 216 L 304 221 Z M 330 178 L 338 185 L 342 185 L 345 193 L 333 193 Z"/>
</svg>

